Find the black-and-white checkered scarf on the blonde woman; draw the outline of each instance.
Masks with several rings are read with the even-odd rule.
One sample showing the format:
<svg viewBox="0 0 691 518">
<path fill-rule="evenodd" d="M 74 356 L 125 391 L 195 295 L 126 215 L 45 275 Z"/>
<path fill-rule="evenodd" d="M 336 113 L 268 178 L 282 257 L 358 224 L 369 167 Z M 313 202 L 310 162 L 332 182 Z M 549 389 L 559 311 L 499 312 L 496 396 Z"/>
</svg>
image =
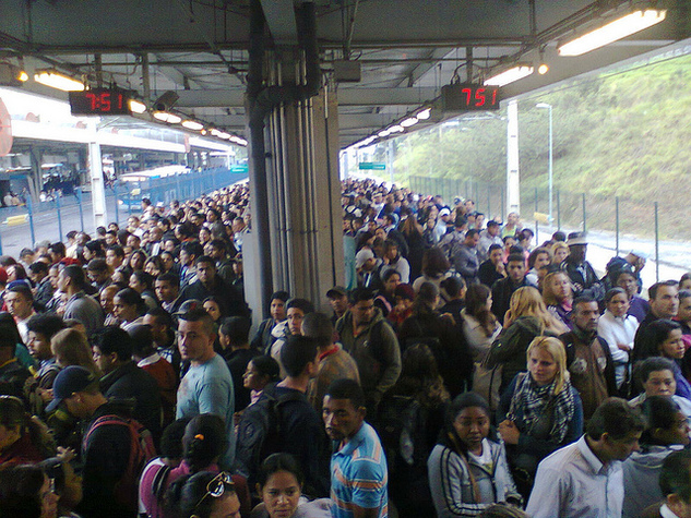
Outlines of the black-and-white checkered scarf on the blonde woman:
<svg viewBox="0 0 691 518">
<path fill-rule="evenodd" d="M 571 383 L 565 382 L 561 393 L 555 396 L 556 383 L 557 381 L 553 380 L 549 385 L 540 387 L 528 373 L 519 377 L 507 419 L 515 422 L 516 415 L 522 413 L 524 422 L 522 432 L 529 434 L 533 425 L 544 417 L 546 411 L 552 412 L 549 435 L 552 441 L 561 444 L 567 436 L 569 423 L 573 419 L 575 403 L 571 394 Z"/>
</svg>

